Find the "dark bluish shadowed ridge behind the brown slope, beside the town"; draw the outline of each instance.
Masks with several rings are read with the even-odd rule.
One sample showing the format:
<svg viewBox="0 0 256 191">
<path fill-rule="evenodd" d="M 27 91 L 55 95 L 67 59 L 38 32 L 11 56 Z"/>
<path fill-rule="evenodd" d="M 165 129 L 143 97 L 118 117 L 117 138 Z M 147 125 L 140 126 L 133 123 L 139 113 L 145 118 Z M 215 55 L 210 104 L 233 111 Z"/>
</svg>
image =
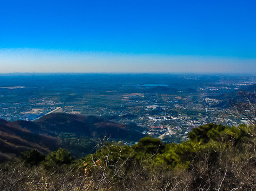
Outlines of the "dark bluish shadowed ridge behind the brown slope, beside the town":
<svg viewBox="0 0 256 191">
<path fill-rule="evenodd" d="M 138 141 L 144 135 L 141 128 L 114 123 L 97 116 L 82 116 L 72 114 L 48 114 L 35 121 L 42 131 L 76 133 L 90 138 L 121 138 Z"/>
</svg>

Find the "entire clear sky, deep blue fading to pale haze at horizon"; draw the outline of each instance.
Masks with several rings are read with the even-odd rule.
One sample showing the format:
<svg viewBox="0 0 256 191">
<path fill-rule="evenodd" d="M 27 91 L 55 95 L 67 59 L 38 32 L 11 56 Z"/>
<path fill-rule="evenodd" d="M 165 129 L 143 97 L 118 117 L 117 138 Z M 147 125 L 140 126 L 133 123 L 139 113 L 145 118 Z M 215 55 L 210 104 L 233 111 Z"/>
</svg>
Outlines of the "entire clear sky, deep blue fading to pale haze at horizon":
<svg viewBox="0 0 256 191">
<path fill-rule="evenodd" d="M 0 73 L 256 73 L 255 1 L 0 2 Z"/>
</svg>

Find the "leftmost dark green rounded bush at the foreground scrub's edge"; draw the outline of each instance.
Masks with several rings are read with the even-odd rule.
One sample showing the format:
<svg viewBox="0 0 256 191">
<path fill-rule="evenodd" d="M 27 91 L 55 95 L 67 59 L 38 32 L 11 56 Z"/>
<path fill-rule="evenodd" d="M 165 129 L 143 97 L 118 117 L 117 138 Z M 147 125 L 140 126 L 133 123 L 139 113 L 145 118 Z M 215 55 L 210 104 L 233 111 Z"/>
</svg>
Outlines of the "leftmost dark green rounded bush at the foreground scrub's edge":
<svg viewBox="0 0 256 191">
<path fill-rule="evenodd" d="M 37 150 L 29 150 L 20 154 L 20 159 L 29 166 L 39 164 L 39 162 L 45 159 L 45 155 L 38 152 Z"/>
</svg>

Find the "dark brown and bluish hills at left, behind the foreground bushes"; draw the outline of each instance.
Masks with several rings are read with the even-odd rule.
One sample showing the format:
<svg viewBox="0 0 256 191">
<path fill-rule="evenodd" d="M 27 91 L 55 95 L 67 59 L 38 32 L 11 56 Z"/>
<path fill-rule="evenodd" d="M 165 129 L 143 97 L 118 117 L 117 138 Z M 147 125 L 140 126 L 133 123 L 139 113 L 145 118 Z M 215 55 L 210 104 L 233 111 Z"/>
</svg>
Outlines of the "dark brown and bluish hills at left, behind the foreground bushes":
<svg viewBox="0 0 256 191">
<path fill-rule="evenodd" d="M 60 134 L 70 134 L 73 140 L 82 137 L 96 142 L 98 138 L 111 137 L 135 142 L 144 137 L 142 131 L 142 127 L 122 125 L 97 116 L 54 113 L 36 121 L 0 119 L 0 161 L 18 157 L 20 152 L 28 149 L 40 152 L 53 151 L 57 147 L 68 149 Z M 74 153 L 78 153 L 76 148 L 81 150 L 81 146 L 73 146 Z"/>
</svg>

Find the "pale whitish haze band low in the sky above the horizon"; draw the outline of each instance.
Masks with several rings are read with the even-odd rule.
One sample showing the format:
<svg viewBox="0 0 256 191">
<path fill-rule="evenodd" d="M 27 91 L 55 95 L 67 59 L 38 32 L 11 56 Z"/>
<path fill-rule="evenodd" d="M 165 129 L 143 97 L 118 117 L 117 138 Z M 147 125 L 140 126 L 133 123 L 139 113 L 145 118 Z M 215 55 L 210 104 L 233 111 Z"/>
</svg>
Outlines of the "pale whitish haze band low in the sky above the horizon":
<svg viewBox="0 0 256 191">
<path fill-rule="evenodd" d="M 255 58 L 40 49 L 0 49 L 0 66 L 0 73 L 256 74 Z"/>
</svg>

